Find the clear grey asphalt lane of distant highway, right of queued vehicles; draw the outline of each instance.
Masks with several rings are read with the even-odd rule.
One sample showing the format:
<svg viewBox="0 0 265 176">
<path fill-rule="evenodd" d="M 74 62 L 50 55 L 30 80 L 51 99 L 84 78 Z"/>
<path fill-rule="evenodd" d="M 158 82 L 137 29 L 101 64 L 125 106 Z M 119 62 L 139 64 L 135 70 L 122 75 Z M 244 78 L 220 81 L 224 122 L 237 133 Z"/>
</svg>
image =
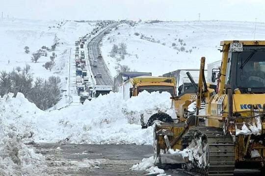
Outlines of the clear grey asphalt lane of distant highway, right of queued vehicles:
<svg viewBox="0 0 265 176">
<path fill-rule="evenodd" d="M 95 37 L 87 44 L 88 48 L 88 59 L 91 66 L 91 70 L 93 75 L 102 74 L 102 78 L 95 78 L 97 85 L 106 85 L 106 86 L 113 86 L 113 80 L 111 74 L 106 66 L 104 58 L 98 59 L 100 51 L 100 43 L 102 38 L 104 37 L 104 32 L 110 30 L 111 28 L 115 27 L 118 24 L 110 24 L 106 27 L 105 30 L 101 31 L 99 34 L 96 34 Z M 93 66 L 92 61 L 96 59 L 98 61 L 98 66 Z"/>
</svg>

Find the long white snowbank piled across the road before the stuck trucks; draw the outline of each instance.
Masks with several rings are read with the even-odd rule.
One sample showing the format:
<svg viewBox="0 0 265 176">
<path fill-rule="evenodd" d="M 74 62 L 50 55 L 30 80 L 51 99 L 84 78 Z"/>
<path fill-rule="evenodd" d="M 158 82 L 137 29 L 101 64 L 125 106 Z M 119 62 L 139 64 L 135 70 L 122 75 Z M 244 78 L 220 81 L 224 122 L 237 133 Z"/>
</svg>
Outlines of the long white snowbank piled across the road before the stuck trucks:
<svg viewBox="0 0 265 176">
<path fill-rule="evenodd" d="M 0 113 L 5 131 L 13 129 L 27 142 L 142 145 L 153 143 L 153 128 L 141 129 L 140 116 L 132 114 L 169 109 L 170 96 L 145 91 L 125 101 L 111 92 L 83 106 L 48 112 L 39 110 L 21 93 L 16 98 L 8 94 L 0 101 Z"/>
</svg>

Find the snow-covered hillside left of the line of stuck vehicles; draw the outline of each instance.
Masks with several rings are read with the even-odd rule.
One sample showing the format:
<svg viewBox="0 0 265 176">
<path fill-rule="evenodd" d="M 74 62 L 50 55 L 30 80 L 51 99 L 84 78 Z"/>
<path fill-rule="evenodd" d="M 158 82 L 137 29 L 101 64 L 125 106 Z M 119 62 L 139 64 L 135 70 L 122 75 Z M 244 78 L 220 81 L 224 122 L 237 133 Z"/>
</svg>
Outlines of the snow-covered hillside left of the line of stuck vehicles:
<svg viewBox="0 0 265 176">
<path fill-rule="evenodd" d="M 94 23 L 72 21 L 41 21 L 4 19 L 0 21 L 0 70 L 11 71 L 13 68 L 30 65 L 33 77 L 47 79 L 49 76 L 59 76 L 62 80 L 68 77 L 68 61 L 70 49 L 75 47 L 75 41 L 89 33 Z M 54 26 L 54 27 L 53 27 Z M 42 46 L 51 48 L 55 40 L 59 45 L 55 49 L 55 66 L 52 71 L 43 65 L 50 61 L 52 51 L 47 57 L 42 56 L 37 63 L 31 62 L 31 54 Z M 29 47 L 26 54 L 24 47 Z M 62 81 L 65 83 L 65 81 Z"/>
</svg>

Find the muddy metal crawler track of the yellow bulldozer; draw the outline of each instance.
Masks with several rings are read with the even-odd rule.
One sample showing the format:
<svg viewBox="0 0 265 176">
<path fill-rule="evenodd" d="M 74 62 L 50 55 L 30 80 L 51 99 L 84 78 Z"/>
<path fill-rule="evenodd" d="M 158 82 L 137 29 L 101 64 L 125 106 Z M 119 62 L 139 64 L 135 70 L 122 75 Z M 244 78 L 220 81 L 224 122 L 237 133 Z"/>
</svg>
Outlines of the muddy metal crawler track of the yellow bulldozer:
<svg viewBox="0 0 265 176">
<path fill-rule="evenodd" d="M 194 164 L 186 172 L 194 176 L 234 176 L 235 151 L 232 136 L 223 135 L 221 128 L 192 127 L 183 136 L 183 148 L 198 137 L 205 138 L 204 142 L 208 145 L 205 152 L 208 164 L 205 167 Z"/>
</svg>

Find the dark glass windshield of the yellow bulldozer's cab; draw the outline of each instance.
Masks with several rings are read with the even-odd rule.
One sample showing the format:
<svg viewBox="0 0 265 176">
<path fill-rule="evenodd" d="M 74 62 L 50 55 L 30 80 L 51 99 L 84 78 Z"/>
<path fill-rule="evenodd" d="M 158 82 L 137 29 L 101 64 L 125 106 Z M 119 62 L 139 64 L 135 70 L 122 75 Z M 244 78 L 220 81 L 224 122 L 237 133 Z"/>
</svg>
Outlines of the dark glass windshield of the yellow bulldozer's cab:
<svg viewBox="0 0 265 176">
<path fill-rule="evenodd" d="M 238 88 L 265 88 L 265 52 L 242 52 L 237 62 Z"/>
</svg>

